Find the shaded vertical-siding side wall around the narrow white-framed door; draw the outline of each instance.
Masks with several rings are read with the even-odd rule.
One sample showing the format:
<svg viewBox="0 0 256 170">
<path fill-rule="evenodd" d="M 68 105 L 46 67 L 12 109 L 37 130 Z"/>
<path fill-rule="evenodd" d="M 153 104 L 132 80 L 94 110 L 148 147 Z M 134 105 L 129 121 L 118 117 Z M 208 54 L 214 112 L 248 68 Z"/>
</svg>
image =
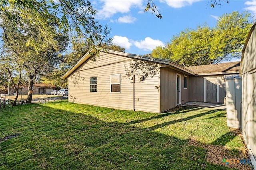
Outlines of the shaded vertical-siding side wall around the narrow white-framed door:
<svg viewBox="0 0 256 170">
<path fill-rule="evenodd" d="M 184 74 L 170 69 L 168 67 L 161 67 L 160 69 L 160 112 L 166 111 L 173 107 L 176 107 L 176 74 L 181 75 L 181 103 L 189 101 L 189 89 L 184 89 Z M 188 76 L 188 75 L 187 75 Z M 187 79 L 189 83 L 189 76 Z"/>
</svg>

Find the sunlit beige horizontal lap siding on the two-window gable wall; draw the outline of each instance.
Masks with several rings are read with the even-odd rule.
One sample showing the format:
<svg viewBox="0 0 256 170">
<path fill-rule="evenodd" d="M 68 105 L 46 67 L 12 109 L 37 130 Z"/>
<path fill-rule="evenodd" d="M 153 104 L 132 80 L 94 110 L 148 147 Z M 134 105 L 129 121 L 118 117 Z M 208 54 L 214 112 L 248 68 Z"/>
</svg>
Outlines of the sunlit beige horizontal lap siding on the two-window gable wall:
<svg viewBox="0 0 256 170">
<path fill-rule="evenodd" d="M 133 84 L 129 79 L 129 67 L 133 59 L 101 53 L 97 62 L 86 61 L 68 77 L 69 101 L 115 109 L 133 110 Z M 110 92 L 110 75 L 120 74 L 120 93 Z M 135 110 L 159 113 L 159 75 L 139 82 L 135 72 Z M 97 77 L 97 92 L 90 92 L 90 77 Z"/>
</svg>

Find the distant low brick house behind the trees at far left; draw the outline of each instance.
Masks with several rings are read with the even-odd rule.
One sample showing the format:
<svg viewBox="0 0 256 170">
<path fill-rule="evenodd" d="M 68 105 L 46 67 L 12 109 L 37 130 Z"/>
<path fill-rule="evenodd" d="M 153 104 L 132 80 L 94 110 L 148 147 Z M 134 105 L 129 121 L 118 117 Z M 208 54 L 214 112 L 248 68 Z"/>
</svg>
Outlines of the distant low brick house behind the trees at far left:
<svg viewBox="0 0 256 170">
<path fill-rule="evenodd" d="M 46 83 L 35 83 L 33 85 L 33 94 L 50 94 L 52 90 L 57 89 L 54 85 L 47 85 Z M 10 94 L 13 95 L 15 90 L 10 89 Z M 28 95 L 28 85 L 19 85 L 19 95 Z"/>
</svg>

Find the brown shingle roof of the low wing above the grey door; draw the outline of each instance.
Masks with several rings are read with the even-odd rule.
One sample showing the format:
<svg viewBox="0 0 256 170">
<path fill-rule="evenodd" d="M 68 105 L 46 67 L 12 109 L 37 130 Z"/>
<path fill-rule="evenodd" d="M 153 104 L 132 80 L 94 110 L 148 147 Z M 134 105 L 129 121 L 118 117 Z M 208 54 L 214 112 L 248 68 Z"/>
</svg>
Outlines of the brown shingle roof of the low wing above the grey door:
<svg viewBox="0 0 256 170">
<path fill-rule="evenodd" d="M 240 61 L 186 67 L 198 75 L 234 74 L 240 71 Z"/>
</svg>

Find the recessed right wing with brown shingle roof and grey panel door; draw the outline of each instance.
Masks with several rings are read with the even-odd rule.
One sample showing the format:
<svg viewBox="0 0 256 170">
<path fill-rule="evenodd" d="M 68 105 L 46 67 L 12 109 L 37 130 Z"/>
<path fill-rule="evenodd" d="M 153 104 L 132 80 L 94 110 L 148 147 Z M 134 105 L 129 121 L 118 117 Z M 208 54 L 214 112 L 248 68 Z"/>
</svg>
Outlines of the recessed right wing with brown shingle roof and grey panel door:
<svg viewBox="0 0 256 170">
<path fill-rule="evenodd" d="M 240 61 L 186 67 L 198 76 L 190 77 L 190 101 L 224 103 L 224 75 L 238 74 Z"/>
</svg>

